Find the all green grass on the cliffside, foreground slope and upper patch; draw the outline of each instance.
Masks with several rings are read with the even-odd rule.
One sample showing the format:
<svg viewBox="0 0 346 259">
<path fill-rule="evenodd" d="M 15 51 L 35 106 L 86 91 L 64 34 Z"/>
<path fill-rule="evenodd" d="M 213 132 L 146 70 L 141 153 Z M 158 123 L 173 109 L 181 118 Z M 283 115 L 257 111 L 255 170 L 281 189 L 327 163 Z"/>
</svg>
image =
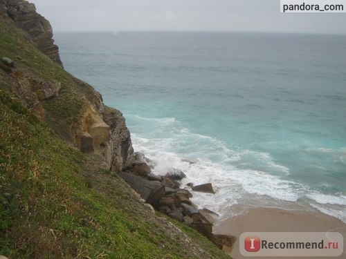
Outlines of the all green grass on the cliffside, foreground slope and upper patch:
<svg viewBox="0 0 346 259">
<path fill-rule="evenodd" d="M 51 117 L 73 121 L 76 83 L 21 32 L 0 21 L 0 57 L 37 77 L 62 82 L 59 98 L 45 104 Z M 8 92 L 0 70 L 0 255 L 9 258 L 227 258 L 206 238 L 185 226 L 176 230 L 138 201 L 129 187 L 91 157 L 60 139 Z M 71 109 L 75 111 L 71 112 Z M 195 244 L 192 248 L 186 240 Z M 202 249 L 200 249 L 202 250 Z M 203 253 L 201 253 L 203 255 Z"/>
</svg>

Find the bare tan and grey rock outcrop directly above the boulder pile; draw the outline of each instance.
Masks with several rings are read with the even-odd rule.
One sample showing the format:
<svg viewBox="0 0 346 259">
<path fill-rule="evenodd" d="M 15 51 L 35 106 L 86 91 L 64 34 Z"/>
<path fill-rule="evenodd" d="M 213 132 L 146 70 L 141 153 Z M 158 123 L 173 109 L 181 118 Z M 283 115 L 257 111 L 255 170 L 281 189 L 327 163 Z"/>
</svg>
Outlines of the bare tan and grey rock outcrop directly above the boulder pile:
<svg viewBox="0 0 346 259">
<path fill-rule="evenodd" d="M 99 95 L 100 96 L 100 95 Z M 75 144 L 93 153 L 104 169 L 122 171 L 134 160 L 131 135 L 125 118 L 115 108 L 86 103 L 75 130 Z"/>
</svg>

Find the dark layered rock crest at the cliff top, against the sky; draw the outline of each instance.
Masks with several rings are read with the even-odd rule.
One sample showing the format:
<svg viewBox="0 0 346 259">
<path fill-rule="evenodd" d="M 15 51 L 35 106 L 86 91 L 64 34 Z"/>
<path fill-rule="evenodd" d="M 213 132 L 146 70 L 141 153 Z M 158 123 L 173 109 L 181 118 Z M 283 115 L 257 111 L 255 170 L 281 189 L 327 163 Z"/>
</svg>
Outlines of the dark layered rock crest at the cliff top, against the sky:
<svg viewBox="0 0 346 259">
<path fill-rule="evenodd" d="M 51 24 L 36 12 L 33 3 L 24 0 L 0 0 L 0 16 L 12 19 L 19 28 L 28 32 L 39 50 L 62 66 L 58 47 L 54 44 Z"/>
</svg>

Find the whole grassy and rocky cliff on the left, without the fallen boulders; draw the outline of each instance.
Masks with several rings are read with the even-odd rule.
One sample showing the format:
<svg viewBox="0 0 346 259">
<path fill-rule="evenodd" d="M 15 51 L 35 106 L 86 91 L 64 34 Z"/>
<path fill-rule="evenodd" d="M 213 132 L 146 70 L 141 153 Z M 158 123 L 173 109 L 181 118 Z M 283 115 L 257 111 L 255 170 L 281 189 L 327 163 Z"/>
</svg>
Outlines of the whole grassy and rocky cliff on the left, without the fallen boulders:
<svg viewBox="0 0 346 259">
<path fill-rule="evenodd" d="M 0 59 L 0 257 L 228 258 L 118 177 L 125 118 L 62 68 L 33 4 L 0 0 Z"/>
</svg>

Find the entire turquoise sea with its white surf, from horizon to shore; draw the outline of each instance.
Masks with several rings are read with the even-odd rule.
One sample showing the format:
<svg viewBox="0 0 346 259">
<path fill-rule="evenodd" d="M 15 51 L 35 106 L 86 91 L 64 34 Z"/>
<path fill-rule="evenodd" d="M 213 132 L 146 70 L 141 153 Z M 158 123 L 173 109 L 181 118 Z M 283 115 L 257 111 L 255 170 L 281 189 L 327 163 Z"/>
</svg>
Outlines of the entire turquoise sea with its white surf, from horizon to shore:
<svg viewBox="0 0 346 259">
<path fill-rule="evenodd" d="M 155 173 L 212 182 L 194 202 L 318 209 L 346 222 L 346 37 L 57 33 L 64 67 L 125 115 Z M 193 162 L 193 163 L 192 163 Z"/>
</svg>

